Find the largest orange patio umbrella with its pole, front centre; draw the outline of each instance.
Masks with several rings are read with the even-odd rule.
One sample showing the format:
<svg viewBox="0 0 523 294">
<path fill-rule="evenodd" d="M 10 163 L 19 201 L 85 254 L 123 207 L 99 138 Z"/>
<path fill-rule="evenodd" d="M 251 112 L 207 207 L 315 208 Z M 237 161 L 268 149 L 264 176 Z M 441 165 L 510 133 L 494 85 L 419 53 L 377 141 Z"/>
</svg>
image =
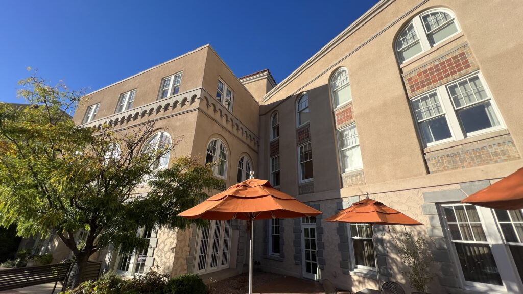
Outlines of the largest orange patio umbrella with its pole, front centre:
<svg viewBox="0 0 523 294">
<path fill-rule="evenodd" d="M 322 212 L 272 188 L 268 180 L 251 178 L 233 185 L 178 216 L 204 220 L 248 220 L 251 225 L 249 240 L 249 294 L 253 292 L 253 221 L 313 217 Z"/>
</svg>

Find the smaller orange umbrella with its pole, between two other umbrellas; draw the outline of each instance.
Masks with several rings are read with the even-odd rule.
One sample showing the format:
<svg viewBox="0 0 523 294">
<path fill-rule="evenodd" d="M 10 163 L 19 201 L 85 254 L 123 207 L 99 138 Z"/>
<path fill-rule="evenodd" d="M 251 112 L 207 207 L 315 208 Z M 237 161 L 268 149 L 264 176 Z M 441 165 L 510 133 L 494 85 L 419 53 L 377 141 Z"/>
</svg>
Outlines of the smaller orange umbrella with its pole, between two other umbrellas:
<svg viewBox="0 0 523 294">
<path fill-rule="evenodd" d="M 378 290 L 380 289 L 380 271 L 378 270 L 378 256 L 376 254 L 376 242 L 372 233 L 373 224 L 403 224 L 403 225 L 420 225 L 420 223 L 405 214 L 392 209 L 383 203 L 366 198 L 353 203 L 326 221 L 340 221 L 349 223 L 368 223 L 372 234 L 372 244 L 374 246 L 374 263 L 376 264 L 376 277 L 378 278 Z"/>
</svg>

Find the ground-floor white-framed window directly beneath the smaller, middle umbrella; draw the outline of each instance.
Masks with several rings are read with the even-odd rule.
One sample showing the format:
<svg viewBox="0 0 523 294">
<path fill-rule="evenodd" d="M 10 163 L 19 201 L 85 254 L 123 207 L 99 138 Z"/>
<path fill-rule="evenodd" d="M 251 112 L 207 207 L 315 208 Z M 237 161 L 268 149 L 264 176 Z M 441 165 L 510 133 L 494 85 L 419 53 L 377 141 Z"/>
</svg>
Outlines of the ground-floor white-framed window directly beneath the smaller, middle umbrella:
<svg viewBox="0 0 523 294">
<path fill-rule="evenodd" d="M 370 225 L 366 223 L 351 223 L 349 228 L 354 253 L 354 266 L 356 268 L 376 270 L 374 243 Z"/>
</svg>

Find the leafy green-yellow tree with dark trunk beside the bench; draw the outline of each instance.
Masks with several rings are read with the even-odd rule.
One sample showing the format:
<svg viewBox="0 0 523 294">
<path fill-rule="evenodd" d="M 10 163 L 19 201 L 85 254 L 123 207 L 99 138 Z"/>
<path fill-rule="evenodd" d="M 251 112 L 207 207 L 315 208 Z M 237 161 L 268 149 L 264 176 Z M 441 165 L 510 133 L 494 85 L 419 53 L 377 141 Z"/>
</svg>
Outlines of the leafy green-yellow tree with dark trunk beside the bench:
<svg viewBox="0 0 523 294">
<path fill-rule="evenodd" d="M 100 248 L 144 249 L 139 228 L 187 228 L 191 221 L 177 214 L 223 186 L 191 157 L 158 169 L 177 142 L 148 144 L 158 131 L 152 123 L 123 131 L 78 127 L 66 114 L 84 103 L 84 90 L 36 75 L 19 84 L 29 105 L 0 103 L 0 225 L 16 224 L 24 237 L 58 235 L 78 263 L 73 286 Z"/>
</svg>

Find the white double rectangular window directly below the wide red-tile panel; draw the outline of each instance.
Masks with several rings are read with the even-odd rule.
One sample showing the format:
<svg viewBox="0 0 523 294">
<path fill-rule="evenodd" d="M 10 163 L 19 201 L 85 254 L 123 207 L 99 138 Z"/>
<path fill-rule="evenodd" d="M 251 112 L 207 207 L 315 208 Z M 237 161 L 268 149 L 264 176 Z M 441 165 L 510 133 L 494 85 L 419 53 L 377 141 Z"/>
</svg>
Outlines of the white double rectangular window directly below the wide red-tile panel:
<svg viewBox="0 0 523 294">
<path fill-rule="evenodd" d="M 480 73 L 414 97 L 411 107 L 425 146 L 503 128 L 494 99 Z"/>
</svg>

